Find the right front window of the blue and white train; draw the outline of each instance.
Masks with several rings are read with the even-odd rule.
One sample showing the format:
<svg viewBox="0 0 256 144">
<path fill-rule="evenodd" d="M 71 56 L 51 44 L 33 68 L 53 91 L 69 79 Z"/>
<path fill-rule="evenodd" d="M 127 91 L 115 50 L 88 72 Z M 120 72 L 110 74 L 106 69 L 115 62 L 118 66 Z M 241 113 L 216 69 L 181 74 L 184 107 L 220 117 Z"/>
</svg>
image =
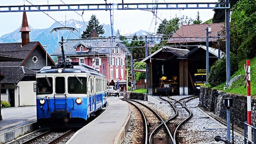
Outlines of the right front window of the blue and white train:
<svg viewBox="0 0 256 144">
<path fill-rule="evenodd" d="M 86 77 L 68 77 L 69 94 L 86 94 L 87 93 Z"/>
</svg>

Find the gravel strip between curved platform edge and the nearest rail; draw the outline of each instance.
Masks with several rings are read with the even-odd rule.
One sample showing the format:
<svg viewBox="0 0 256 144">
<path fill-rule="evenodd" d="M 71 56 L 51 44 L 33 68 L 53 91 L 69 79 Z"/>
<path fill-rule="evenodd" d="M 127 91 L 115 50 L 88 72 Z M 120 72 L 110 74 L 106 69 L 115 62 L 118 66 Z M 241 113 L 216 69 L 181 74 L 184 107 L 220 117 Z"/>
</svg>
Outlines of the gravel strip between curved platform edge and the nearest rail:
<svg viewBox="0 0 256 144">
<path fill-rule="evenodd" d="M 129 104 L 129 103 L 128 103 Z M 143 137 L 143 120 L 142 116 L 137 108 L 129 104 L 131 108 L 131 122 L 128 127 L 127 133 L 124 138 L 124 144 L 140 143 L 141 137 Z M 141 142 L 142 143 L 142 142 Z"/>
</svg>

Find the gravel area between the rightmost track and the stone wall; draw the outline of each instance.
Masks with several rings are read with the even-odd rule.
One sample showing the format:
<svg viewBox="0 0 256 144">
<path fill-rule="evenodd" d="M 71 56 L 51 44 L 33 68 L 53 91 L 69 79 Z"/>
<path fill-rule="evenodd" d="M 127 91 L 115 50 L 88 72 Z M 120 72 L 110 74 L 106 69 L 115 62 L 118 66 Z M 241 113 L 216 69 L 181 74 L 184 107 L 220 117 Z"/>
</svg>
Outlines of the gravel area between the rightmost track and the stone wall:
<svg viewBox="0 0 256 144">
<path fill-rule="evenodd" d="M 214 137 L 219 135 L 225 139 L 226 129 L 205 129 L 205 127 L 220 125 L 195 108 L 198 103 L 199 98 L 186 103 L 186 106 L 192 111 L 193 117 L 181 127 L 178 136 L 183 137 L 183 143 L 186 144 L 218 144 L 214 141 Z M 234 141 L 236 144 L 241 144 L 243 138 L 234 135 Z"/>
</svg>

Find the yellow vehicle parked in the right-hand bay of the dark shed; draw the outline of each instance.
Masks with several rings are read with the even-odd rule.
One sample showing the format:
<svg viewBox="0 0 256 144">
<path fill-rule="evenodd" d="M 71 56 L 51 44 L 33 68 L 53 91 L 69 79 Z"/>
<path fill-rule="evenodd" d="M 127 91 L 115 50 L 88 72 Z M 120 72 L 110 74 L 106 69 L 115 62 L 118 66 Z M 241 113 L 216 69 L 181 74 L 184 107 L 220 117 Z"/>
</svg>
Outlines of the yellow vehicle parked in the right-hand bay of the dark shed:
<svg viewBox="0 0 256 144">
<path fill-rule="evenodd" d="M 206 69 L 198 69 L 194 74 L 194 89 L 200 89 L 200 86 L 206 82 Z"/>
</svg>

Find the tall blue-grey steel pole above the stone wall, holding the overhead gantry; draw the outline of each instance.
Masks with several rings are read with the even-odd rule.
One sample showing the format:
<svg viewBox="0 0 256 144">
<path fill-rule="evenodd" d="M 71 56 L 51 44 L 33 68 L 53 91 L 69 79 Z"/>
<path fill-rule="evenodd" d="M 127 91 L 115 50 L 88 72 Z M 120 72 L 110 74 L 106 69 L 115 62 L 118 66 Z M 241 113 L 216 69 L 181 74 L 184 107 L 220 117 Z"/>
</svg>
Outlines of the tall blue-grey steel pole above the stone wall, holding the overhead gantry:
<svg viewBox="0 0 256 144">
<path fill-rule="evenodd" d="M 229 0 L 226 0 L 229 3 Z M 226 9 L 226 86 L 230 82 L 229 9 Z"/>
</svg>

